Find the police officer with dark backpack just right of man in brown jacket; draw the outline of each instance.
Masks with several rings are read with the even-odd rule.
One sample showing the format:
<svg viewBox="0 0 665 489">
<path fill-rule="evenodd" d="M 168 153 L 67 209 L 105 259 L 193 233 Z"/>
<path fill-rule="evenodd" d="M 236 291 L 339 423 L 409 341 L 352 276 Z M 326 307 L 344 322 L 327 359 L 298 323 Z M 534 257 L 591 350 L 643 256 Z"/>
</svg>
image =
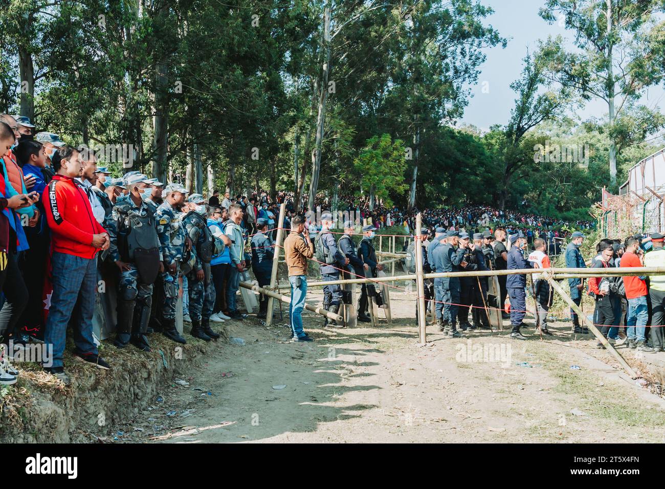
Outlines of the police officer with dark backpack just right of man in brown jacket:
<svg viewBox="0 0 665 489">
<path fill-rule="evenodd" d="M 321 216 L 321 232 L 317 235 L 315 249 L 317 249 L 317 260 L 321 270 L 323 281 L 339 280 L 339 269 L 348 265 L 348 259 L 337 248 L 334 236 L 330 232 L 332 226 L 332 214 L 325 213 Z M 323 256 L 322 256 L 323 255 Z M 323 259 L 322 259 L 323 258 Z M 336 314 L 342 303 L 342 289 L 339 284 L 323 286 L 323 309 Z M 343 324 L 338 325 L 334 319 L 325 319 L 324 326 L 333 328 L 342 328 Z"/>
</svg>

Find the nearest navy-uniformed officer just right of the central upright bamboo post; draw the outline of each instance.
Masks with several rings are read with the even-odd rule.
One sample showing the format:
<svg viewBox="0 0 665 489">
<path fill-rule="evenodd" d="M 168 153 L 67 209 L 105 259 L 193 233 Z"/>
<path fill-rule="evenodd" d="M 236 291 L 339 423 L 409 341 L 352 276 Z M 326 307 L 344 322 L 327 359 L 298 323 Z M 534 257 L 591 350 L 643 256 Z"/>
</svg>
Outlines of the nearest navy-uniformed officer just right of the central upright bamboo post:
<svg viewBox="0 0 665 489">
<path fill-rule="evenodd" d="M 465 249 L 459 246 L 460 233 L 449 231 L 446 234 L 446 243 L 434 249 L 434 263 L 438 272 L 460 271 L 460 267 L 466 267 L 464 261 Z M 458 304 L 460 303 L 460 279 L 458 277 L 443 277 L 435 279 L 434 288 L 439 288 L 439 293 L 444 302 L 444 318 L 448 320 L 448 337 L 459 338 L 462 336 L 457 330 Z M 446 330 L 444 329 L 444 332 Z"/>
</svg>

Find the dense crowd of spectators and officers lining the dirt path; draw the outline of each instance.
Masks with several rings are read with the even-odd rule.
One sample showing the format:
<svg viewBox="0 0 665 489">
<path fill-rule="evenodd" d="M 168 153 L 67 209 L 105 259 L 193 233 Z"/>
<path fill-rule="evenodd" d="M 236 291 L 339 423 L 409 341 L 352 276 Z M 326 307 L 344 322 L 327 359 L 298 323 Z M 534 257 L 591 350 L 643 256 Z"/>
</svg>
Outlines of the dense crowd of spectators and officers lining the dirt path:
<svg viewBox="0 0 665 489">
<path fill-rule="evenodd" d="M 288 236 L 283 246 L 291 283 L 291 340 L 311 341 L 301 318 L 308 262 L 318 263 L 324 281 L 376 277 L 382 269 L 373 244 L 376 230 L 402 225 L 414 232 L 417 210 L 407 213 L 395 206 L 376 206 L 370 211 L 366 200 L 351 204 L 350 196 L 342 196 L 338 210 L 346 205 L 346 210 L 356 214 L 342 224 L 343 234 L 333 234 L 331 230 L 339 223 L 331 212 L 324 211 L 319 220 L 303 216 L 289 192 L 279 192 L 275 200 L 265 190 L 235 197 L 213 192 L 205 200 L 201 194 L 190 194 L 182 184 L 159 182 L 138 171 L 114 177 L 107 168 L 97 166 L 91 152 L 65 144 L 52 132 L 34 134 L 34 128 L 25 117 L 0 115 L 0 343 L 11 341 L 12 351 L 28 349 L 34 343 L 49 345 L 51 359 L 44 368 L 65 383 L 70 381 L 63 361 L 68 328 L 73 330 L 74 359 L 110 369 L 100 357 L 93 335 L 100 277 L 117 289 L 116 347 L 132 345 L 150 351 L 149 335 L 155 331 L 186 343 L 176 328 L 180 295 L 184 321 L 191 324 L 189 334 L 204 341 L 217 339 L 219 333 L 211 323 L 247 317 L 236 303 L 239 282 L 241 277 L 247 278 L 247 270 L 253 271 L 260 287 L 270 283 L 279 204 L 283 203 L 287 210 L 283 228 Z M 317 204 L 330 202 L 321 198 Z M 422 214 L 427 226 L 421 230 L 426 271 L 547 268 L 548 256 L 567 237 L 572 238 L 566 250 L 567 266 L 585 265 L 579 250 L 575 251 L 583 234 L 559 235 L 552 228 L 565 223 L 543 216 L 486 206 L 426 209 Z M 359 224 L 362 239 L 356 245 L 353 238 Z M 584 229 L 592 224 L 576 222 L 575 226 Z M 639 256 L 642 249 L 641 242 L 635 247 L 635 239 L 626 240 L 623 246 L 615 242 L 606 247 L 601 242 L 599 255 L 591 263 L 612 266 L 625 250 L 623 264 L 633 266 L 628 265 L 635 262 L 632 255 Z M 648 261 L 661 256 L 658 236 L 644 243 L 654 248 L 646 254 Z M 529 245 L 532 251 L 527 256 L 524 251 Z M 617 298 L 621 297 L 616 285 L 620 281 L 625 283 L 622 300 Z M 609 291 L 608 283 L 614 284 Z M 499 285 L 500 292 L 493 299 L 488 296 L 486 277 L 435 279 L 426 287 L 426 298 L 436 309 L 440 330 L 459 337 L 460 330 L 489 327 L 488 304 L 493 300 L 503 309 L 509 297 L 511 311 L 509 315 L 502 311 L 503 317 L 511 319 L 511 337 L 525 339 L 520 331 L 526 310 L 525 277 L 504 275 L 499 277 Z M 547 334 L 551 291 L 547 281 L 538 277 L 534 285 L 539 329 Z M 571 282 L 576 301 L 582 293 L 579 285 Z M 589 293 L 597 303 L 595 317 L 608 326 L 604 334 L 616 339 L 623 303 L 628 311 L 626 325 L 636 325 L 626 332 L 628 345 L 642 351 L 662 349 L 662 336 L 654 333 L 659 329 L 652 328 L 652 346 L 644 335 L 648 318 L 662 322 L 665 288 L 659 287 L 657 278 L 650 282 L 640 277 L 589 280 Z M 363 284 L 361 290 L 358 321 L 370 321 L 368 305 L 379 301 L 380 293 L 372 283 Z M 334 283 L 323 291 L 324 308 L 332 313 L 325 326 L 344 327 L 331 318 L 338 317 L 342 303 L 348 303 L 347 291 Z M 267 299 L 261 295 L 258 317 L 265 319 L 266 315 Z M 575 314 L 573 321 L 576 332 L 587 333 Z M 7 351 L 0 352 L 0 357 L 0 384 L 11 385 L 19 370 Z"/>
</svg>

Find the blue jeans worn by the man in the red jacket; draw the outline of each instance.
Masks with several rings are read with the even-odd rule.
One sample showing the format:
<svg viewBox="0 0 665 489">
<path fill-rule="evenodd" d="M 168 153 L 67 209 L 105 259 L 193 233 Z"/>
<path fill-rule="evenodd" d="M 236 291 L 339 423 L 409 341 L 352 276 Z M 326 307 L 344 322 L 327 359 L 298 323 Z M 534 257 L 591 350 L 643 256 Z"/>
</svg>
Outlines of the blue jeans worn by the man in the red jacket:
<svg viewBox="0 0 665 489">
<path fill-rule="evenodd" d="M 54 252 L 51 266 L 53 293 L 44 341 L 53 345 L 53 367 L 62 367 L 67 323 L 72 314 L 76 318 L 76 352 L 97 354 L 97 347 L 92 339 L 92 315 L 97 295 L 97 259 Z M 74 311 L 76 305 L 78 310 Z"/>
</svg>

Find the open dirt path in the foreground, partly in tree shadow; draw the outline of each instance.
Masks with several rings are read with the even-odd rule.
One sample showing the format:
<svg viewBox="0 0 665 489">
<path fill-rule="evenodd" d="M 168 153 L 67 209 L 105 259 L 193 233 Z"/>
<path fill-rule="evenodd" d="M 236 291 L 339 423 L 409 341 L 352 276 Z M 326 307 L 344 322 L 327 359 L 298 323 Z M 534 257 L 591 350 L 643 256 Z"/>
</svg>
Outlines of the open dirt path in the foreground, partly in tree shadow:
<svg viewBox="0 0 665 489">
<path fill-rule="evenodd" d="M 607 354 L 591 341 L 571 340 L 569 323 L 548 342 L 489 331 L 451 340 L 430 327 L 419 347 L 412 299 L 392 305 L 393 325 L 377 329 L 327 331 L 307 315 L 317 341 L 305 344 L 284 343 L 284 326 L 229 321 L 245 346 L 215 345 L 189 386 L 174 383 L 118 429 L 168 443 L 665 439 L 665 403 L 599 361 Z"/>
</svg>

